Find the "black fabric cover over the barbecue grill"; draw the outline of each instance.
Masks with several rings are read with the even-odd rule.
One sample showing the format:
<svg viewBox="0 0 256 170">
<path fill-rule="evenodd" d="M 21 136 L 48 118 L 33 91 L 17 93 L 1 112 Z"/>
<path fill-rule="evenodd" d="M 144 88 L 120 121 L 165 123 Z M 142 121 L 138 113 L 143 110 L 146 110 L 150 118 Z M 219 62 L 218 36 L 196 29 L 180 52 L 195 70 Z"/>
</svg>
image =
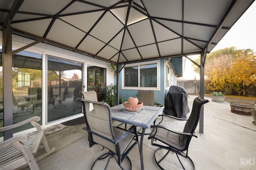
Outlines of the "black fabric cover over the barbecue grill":
<svg viewBox="0 0 256 170">
<path fill-rule="evenodd" d="M 174 117 L 187 119 L 189 113 L 188 92 L 180 86 L 171 86 L 166 96 L 164 113 Z"/>
</svg>

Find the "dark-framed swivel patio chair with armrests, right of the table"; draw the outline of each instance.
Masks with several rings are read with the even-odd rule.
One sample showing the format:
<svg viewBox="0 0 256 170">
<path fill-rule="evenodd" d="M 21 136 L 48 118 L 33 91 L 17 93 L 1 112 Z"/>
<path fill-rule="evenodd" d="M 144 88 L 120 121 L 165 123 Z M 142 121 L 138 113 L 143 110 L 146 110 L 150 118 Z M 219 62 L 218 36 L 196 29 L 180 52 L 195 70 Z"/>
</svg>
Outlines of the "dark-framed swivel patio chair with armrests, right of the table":
<svg viewBox="0 0 256 170">
<path fill-rule="evenodd" d="M 188 146 L 189 146 L 191 138 L 197 137 L 196 135 L 194 135 L 194 131 L 198 124 L 201 107 L 203 104 L 206 104 L 208 102 L 209 102 L 208 100 L 204 100 L 200 96 L 195 98 L 194 102 L 193 102 L 192 111 L 191 111 L 190 117 L 188 119 L 180 119 L 180 118 L 173 117 L 170 115 L 159 115 L 159 116 L 165 116 L 165 117 L 172 117 L 172 118 L 178 119 L 178 120 L 186 120 L 187 122 L 185 124 L 183 132 L 174 131 L 164 125 L 161 125 L 160 123 L 162 121 L 158 125 L 151 126 L 151 127 L 153 127 L 153 130 L 150 133 L 148 139 L 151 139 L 151 145 L 158 147 L 158 149 L 156 149 L 156 151 L 154 153 L 154 158 L 155 158 L 156 164 L 162 170 L 164 170 L 164 168 L 162 168 L 162 166 L 160 166 L 160 162 L 162 162 L 162 160 L 164 160 L 164 158 L 170 153 L 170 151 L 176 153 L 176 156 L 178 157 L 178 160 L 179 160 L 180 164 L 182 165 L 183 169 L 185 169 L 185 168 L 184 168 L 182 162 L 180 161 L 180 158 L 178 155 L 188 158 L 191 161 L 191 163 L 193 164 L 193 168 L 194 168 L 194 163 L 188 156 Z M 159 144 L 159 142 L 156 142 L 156 141 L 160 141 L 161 143 Z M 162 145 L 162 144 L 164 144 L 164 145 Z M 156 155 L 156 153 L 160 149 L 166 149 L 167 153 L 160 160 L 157 161 L 156 156 L 159 157 L 159 154 Z M 184 151 L 186 151 L 186 153 L 184 153 Z"/>
</svg>

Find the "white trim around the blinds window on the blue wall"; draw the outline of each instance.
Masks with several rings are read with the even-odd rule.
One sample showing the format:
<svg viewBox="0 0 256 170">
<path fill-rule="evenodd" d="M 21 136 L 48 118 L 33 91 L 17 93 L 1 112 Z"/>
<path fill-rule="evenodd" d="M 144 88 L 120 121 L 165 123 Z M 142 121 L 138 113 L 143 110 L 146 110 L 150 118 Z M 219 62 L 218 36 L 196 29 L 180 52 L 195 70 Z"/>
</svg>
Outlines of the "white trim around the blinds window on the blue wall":
<svg viewBox="0 0 256 170">
<path fill-rule="evenodd" d="M 156 88 L 145 88 L 145 87 L 125 87 L 124 86 L 124 68 L 125 67 L 131 67 L 131 66 L 139 66 L 139 65 L 146 65 L 146 64 L 156 64 L 156 70 L 157 70 L 157 87 Z M 123 65 L 122 65 L 123 67 Z M 155 61 L 145 61 L 141 63 L 132 63 L 132 64 L 126 64 L 122 70 L 122 90 L 160 90 L 160 60 Z M 140 80 L 138 80 L 140 81 Z"/>
</svg>

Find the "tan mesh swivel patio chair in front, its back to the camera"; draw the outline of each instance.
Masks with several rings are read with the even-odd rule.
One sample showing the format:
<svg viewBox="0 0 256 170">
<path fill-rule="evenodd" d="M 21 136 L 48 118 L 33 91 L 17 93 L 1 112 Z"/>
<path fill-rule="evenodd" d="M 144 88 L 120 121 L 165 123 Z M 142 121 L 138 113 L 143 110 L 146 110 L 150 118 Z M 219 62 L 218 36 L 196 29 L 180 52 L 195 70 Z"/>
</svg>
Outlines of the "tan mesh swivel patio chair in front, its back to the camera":
<svg viewBox="0 0 256 170">
<path fill-rule="evenodd" d="M 109 150 L 94 161 L 91 169 L 98 160 L 107 157 L 108 161 L 105 169 L 107 169 L 111 158 L 115 158 L 122 170 L 124 168 L 121 164 L 124 159 L 127 158 L 132 169 L 132 163 L 127 155 L 136 144 L 140 146 L 138 135 L 136 133 L 131 133 L 133 129 L 136 131 L 136 127 L 132 126 L 128 131 L 113 127 L 110 106 L 104 102 L 95 102 L 81 98 L 78 98 L 78 101 L 82 102 L 83 105 L 83 113 L 86 123 L 86 127 L 83 129 L 92 134 L 91 137 L 95 143 Z"/>
</svg>

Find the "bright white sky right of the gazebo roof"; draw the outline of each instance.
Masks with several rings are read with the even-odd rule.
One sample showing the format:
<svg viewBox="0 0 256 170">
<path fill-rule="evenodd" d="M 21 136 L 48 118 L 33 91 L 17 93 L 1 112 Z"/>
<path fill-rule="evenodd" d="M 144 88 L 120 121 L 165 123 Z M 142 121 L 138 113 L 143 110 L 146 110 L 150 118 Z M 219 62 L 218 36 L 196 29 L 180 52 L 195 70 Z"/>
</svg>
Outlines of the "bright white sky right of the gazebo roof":
<svg viewBox="0 0 256 170">
<path fill-rule="evenodd" d="M 233 46 L 236 49 L 252 49 L 256 52 L 256 2 L 246 10 L 212 51 Z M 195 59 L 197 56 L 190 56 L 190 58 Z M 186 59 L 184 74 L 181 78 L 194 80 L 195 76 L 196 79 L 200 77 L 193 71 L 191 61 Z"/>
</svg>

